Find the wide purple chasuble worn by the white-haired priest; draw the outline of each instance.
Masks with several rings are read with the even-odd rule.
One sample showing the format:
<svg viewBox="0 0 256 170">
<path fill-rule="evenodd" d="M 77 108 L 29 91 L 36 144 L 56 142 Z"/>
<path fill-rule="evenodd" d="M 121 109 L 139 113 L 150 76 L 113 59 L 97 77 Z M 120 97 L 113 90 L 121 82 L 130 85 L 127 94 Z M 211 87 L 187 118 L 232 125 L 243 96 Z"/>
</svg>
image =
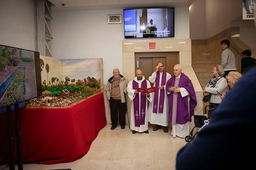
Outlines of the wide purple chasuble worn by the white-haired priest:
<svg viewBox="0 0 256 170">
<path fill-rule="evenodd" d="M 194 115 L 194 108 L 196 107 L 196 92 L 194 90 L 193 84 L 191 80 L 186 76 L 184 73 L 180 74 L 179 81 L 175 81 L 176 77 L 171 77 L 166 82 L 166 92 L 168 92 L 168 89 L 171 86 L 175 86 L 175 82 L 177 83 L 176 86 L 179 88 L 185 88 L 190 96 L 189 101 L 189 113 L 188 113 L 188 96 L 185 96 L 182 98 L 180 92 L 177 94 L 174 94 L 174 92 L 170 92 L 168 94 L 168 104 L 169 104 L 169 122 L 175 124 L 185 124 L 188 121 L 191 121 L 192 115 Z M 176 99 L 175 99 L 176 98 Z M 176 104 L 173 104 L 173 101 L 177 101 Z M 173 111 L 176 112 L 176 115 L 173 117 Z M 173 120 L 176 119 L 176 120 Z"/>
</svg>

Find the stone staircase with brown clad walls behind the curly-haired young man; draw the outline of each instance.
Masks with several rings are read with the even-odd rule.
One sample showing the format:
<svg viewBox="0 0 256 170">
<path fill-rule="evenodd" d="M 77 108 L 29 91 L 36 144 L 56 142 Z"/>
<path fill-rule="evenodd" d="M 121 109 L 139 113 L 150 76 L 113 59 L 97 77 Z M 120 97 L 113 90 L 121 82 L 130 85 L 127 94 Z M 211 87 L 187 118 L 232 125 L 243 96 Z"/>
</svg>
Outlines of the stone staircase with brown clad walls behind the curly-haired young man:
<svg viewBox="0 0 256 170">
<path fill-rule="evenodd" d="M 239 36 L 239 27 L 230 27 L 210 37 L 206 40 L 192 40 L 191 41 L 191 53 L 192 53 L 192 67 L 196 73 L 196 76 L 204 89 L 204 87 L 209 82 L 212 75 L 212 69 L 214 65 L 221 64 L 221 53 L 222 49 L 220 46 L 220 41 L 222 39 L 230 40 L 229 49 L 234 53 L 236 60 L 236 68 L 238 72 L 241 70 L 241 59 L 242 51 L 245 49 L 250 49 L 252 51 L 252 56 L 256 53 L 244 44 Z"/>
</svg>

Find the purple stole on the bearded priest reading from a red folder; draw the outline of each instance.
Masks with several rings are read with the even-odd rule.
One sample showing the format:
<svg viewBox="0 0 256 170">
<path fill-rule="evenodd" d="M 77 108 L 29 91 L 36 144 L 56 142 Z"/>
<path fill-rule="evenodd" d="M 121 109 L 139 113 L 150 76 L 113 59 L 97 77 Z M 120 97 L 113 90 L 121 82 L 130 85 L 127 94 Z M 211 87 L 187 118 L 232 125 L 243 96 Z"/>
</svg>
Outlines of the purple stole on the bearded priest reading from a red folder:
<svg viewBox="0 0 256 170">
<path fill-rule="evenodd" d="M 132 81 L 132 89 L 136 90 L 139 87 L 139 84 L 136 81 Z M 143 80 L 141 83 L 141 88 L 147 88 L 147 81 Z M 145 117 L 146 117 L 146 102 L 147 97 L 146 94 L 141 93 L 135 94 L 135 98 L 133 100 L 133 111 L 134 111 L 134 122 L 135 126 L 140 127 L 140 125 L 145 125 Z M 140 106 L 139 106 L 140 104 Z M 139 110 L 140 108 L 140 110 Z"/>
</svg>

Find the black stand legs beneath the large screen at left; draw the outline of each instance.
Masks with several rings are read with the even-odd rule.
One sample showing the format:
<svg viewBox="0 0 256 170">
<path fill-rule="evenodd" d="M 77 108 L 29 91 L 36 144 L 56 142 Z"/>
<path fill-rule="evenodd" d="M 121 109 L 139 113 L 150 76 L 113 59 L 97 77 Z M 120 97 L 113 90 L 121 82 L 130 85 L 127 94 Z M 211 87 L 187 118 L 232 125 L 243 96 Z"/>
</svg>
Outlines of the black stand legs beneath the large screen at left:
<svg viewBox="0 0 256 170">
<path fill-rule="evenodd" d="M 19 104 L 15 104 L 15 130 L 16 139 L 12 136 L 12 120 L 11 120 L 11 106 L 6 107 L 7 112 L 7 131 L 8 131 L 8 144 L 9 144 L 9 169 L 15 170 L 14 166 L 14 147 L 13 143 L 17 144 L 18 156 L 18 170 L 23 170 L 22 151 L 21 151 L 21 138 L 20 138 L 20 119 L 19 119 Z"/>
</svg>

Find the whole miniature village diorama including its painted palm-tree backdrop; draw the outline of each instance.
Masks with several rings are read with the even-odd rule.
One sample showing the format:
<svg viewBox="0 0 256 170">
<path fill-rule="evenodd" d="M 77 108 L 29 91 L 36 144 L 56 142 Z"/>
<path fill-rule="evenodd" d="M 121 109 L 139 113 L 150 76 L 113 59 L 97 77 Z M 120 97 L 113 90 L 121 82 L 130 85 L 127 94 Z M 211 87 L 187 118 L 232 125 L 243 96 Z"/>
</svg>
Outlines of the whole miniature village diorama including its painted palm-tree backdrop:
<svg viewBox="0 0 256 170">
<path fill-rule="evenodd" d="M 101 91 L 102 59 L 40 56 L 43 98 L 29 107 L 64 107 Z"/>
</svg>

